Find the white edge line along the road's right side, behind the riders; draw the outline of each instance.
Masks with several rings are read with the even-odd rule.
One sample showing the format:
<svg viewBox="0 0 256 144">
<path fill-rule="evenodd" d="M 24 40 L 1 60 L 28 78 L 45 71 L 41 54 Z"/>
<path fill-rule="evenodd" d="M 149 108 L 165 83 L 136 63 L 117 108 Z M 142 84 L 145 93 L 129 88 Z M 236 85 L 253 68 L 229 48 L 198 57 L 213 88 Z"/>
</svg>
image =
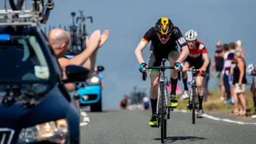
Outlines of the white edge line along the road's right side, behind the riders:
<svg viewBox="0 0 256 144">
<path fill-rule="evenodd" d="M 177 109 L 175 109 L 173 111 L 181 112 L 181 113 L 190 113 L 190 111 L 188 111 L 188 110 L 177 110 Z M 204 117 L 207 117 L 209 119 L 213 119 L 215 121 L 223 121 L 223 122 L 236 123 L 236 124 L 242 124 L 242 125 L 245 125 L 245 124 L 256 125 L 256 123 L 244 123 L 244 122 L 239 122 L 239 121 L 233 121 L 233 120 L 230 120 L 230 119 L 227 119 L 227 118 L 218 118 L 218 117 L 214 117 L 214 116 L 207 115 L 207 114 L 204 114 Z"/>
</svg>

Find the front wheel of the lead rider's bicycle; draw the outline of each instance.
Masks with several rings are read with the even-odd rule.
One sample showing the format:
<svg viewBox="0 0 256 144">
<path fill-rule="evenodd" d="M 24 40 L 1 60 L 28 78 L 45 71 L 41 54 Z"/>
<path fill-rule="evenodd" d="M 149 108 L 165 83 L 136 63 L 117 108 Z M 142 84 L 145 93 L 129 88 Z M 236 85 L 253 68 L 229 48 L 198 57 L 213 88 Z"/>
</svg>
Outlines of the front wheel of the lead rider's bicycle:
<svg viewBox="0 0 256 144">
<path fill-rule="evenodd" d="M 160 84 L 161 93 L 161 142 L 164 143 L 164 135 L 166 135 L 165 124 L 164 123 L 164 84 Z"/>
</svg>

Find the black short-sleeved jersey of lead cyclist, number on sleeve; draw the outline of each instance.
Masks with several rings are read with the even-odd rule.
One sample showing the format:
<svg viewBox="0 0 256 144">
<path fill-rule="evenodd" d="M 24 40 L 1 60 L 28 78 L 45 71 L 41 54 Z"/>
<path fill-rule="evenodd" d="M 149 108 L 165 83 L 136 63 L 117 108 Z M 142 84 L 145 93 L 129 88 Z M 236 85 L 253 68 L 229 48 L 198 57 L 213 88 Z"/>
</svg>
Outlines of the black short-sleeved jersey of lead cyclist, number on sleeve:
<svg viewBox="0 0 256 144">
<path fill-rule="evenodd" d="M 168 47 L 169 49 L 172 47 L 175 48 L 175 45 L 177 45 L 177 43 L 175 43 L 176 41 L 178 42 L 180 47 L 187 45 L 185 38 L 183 37 L 180 29 L 177 26 L 173 27 L 172 33 L 170 35 L 170 39 L 165 44 L 161 43 L 156 33 L 155 27 L 151 27 L 146 32 L 146 34 L 142 37 L 141 41 L 144 41 L 146 43 L 149 43 L 151 41 L 151 45 L 153 45 L 155 49 L 160 49 L 162 47 L 166 47 L 166 48 Z"/>
</svg>

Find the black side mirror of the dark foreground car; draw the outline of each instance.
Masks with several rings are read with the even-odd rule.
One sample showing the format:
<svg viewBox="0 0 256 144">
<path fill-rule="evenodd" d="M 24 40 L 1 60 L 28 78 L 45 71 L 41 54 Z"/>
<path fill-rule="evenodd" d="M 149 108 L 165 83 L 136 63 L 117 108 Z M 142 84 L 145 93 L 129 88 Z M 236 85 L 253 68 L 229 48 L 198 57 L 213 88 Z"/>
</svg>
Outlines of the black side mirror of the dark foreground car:
<svg viewBox="0 0 256 144">
<path fill-rule="evenodd" d="M 68 79 L 63 80 L 64 83 L 83 82 L 89 77 L 90 70 L 82 66 L 69 65 L 66 67 Z"/>
</svg>

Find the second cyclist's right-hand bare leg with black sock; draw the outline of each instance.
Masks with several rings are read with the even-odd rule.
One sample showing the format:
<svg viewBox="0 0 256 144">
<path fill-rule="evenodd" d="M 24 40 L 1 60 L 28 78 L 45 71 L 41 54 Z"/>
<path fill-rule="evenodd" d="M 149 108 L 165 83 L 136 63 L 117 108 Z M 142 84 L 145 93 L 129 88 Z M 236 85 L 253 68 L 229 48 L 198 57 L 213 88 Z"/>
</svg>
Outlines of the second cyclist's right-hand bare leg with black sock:
<svg viewBox="0 0 256 144">
<path fill-rule="evenodd" d="M 204 95 L 204 89 L 203 89 L 203 80 L 204 77 L 202 75 L 196 76 L 196 87 L 198 90 L 198 101 L 199 101 L 199 110 L 203 109 L 203 95 Z"/>
</svg>

